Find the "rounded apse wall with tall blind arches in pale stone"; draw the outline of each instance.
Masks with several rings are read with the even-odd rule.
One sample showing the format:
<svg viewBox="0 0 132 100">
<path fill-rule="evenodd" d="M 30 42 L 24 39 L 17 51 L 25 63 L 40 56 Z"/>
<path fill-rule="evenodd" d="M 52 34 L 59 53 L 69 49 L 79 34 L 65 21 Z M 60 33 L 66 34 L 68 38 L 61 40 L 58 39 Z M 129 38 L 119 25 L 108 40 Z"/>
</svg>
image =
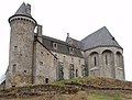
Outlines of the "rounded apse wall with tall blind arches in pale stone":
<svg viewBox="0 0 132 100">
<path fill-rule="evenodd" d="M 123 51 L 118 47 L 97 47 L 86 51 L 89 75 L 124 79 Z"/>
</svg>

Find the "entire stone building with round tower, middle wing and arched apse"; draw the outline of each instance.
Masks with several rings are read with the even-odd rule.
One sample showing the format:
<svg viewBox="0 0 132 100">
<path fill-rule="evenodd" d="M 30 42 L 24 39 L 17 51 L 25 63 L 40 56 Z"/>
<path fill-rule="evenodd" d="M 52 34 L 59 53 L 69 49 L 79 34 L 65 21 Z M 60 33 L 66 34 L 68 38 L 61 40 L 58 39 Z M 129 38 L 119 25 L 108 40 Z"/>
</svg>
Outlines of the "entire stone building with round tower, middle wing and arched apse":
<svg viewBox="0 0 132 100">
<path fill-rule="evenodd" d="M 65 42 L 59 41 L 42 34 L 42 25 L 31 15 L 31 5 L 25 3 L 9 18 L 9 23 L 7 88 L 86 76 L 124 79 L 123 48 L 106 26 L 81 41 L 68 33 Z"/>
</svg>

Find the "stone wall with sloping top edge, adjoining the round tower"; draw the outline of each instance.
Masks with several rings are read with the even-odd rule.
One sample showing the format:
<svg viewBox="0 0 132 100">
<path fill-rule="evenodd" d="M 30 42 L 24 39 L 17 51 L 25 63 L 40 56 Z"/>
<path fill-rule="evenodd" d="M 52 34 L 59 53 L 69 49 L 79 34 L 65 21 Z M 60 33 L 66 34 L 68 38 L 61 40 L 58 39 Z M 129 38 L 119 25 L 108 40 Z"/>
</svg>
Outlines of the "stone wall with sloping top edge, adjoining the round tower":
<svg viewBox="0 0 132 100">
<path fill-rule="evenodd" d="M 56 80 L 56 58 L 38 42 L 35 43 L 34 84 L 48 84 Z"/>
</svg>

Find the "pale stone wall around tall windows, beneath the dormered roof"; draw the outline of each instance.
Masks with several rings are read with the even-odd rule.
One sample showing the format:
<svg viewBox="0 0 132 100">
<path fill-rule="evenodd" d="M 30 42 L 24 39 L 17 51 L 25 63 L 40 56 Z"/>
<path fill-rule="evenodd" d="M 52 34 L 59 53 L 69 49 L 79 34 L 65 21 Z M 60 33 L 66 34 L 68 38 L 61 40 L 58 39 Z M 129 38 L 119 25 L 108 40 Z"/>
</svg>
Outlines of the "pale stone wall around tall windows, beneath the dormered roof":
<svg viewBox="0 0 132 100">
<path fill-rule="evenodd" d="M 74 78 L 82 77 L 82 66 L 85 65 L 84 58 L 65 55 L 57 52 L 53 52 L 53 54 L 58 58 L 57 62 L 63 65 L 64 79 L 70 78 L 70 64 L 74 65 Z"/>
</svg>

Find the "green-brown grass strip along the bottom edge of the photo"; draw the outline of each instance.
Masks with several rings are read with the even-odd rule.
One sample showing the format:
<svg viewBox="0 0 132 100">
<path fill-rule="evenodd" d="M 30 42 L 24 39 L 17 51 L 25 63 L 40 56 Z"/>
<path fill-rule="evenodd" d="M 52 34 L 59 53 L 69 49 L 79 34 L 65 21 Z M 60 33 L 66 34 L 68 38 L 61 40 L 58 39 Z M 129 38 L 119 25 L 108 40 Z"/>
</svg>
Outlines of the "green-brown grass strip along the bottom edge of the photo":
<svg viewBox="0 0 132 100">
<path fill-rule="evenodd" d="M 132 100 L 125 99 L 118 95 L 106 95 L 105 92 L 84 92 L 79 91 L 76 95 L 59 95 L 59 96 L 38 96 L 30 98 L 12 98 L 12 99 L 0 99 L 0 100 Z"/>
</svg>

